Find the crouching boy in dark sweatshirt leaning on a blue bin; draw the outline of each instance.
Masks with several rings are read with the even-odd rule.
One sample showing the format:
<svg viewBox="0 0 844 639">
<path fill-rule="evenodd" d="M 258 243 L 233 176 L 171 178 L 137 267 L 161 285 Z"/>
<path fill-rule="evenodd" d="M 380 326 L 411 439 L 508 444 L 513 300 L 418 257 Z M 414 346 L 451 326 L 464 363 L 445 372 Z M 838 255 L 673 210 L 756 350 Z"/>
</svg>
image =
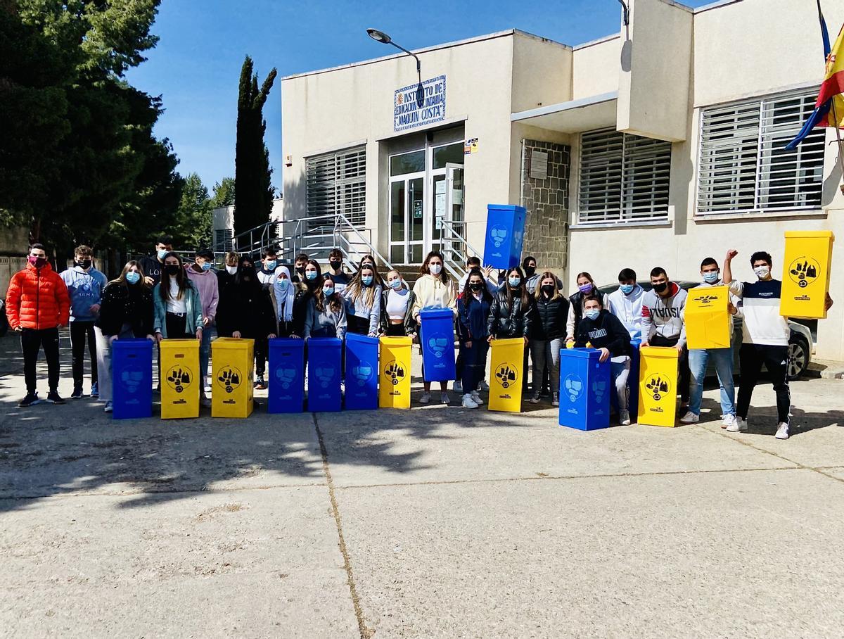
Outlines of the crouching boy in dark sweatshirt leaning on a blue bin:
<svg viewBox="0 0 844 639">
<path fill-rule="evenodd" d="M 600 361 L 609 360 L 609 371 L 619 398 L 619 424 L 629 425 L 630 335 L 619 318 L 603 308 L 603 300 L 598 295 L 587 295 L 583 306 L 575 346 L 582 349 L 591 344 L 593 349 L 601 351 Z"/>
</svg>

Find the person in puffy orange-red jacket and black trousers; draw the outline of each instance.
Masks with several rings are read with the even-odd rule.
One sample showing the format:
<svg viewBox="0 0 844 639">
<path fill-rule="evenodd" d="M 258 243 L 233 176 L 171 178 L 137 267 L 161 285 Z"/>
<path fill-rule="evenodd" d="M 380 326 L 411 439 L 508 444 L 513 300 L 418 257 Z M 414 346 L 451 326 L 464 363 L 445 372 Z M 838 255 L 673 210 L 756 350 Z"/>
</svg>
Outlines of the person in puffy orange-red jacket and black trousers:
<svg viewBox="0 0 844 639">
<path fill-rule="evenodd" d="M 26 268 L 14 273 L 9 280 L 6 315 L 9 328 L 20 333 L 20 349 L 24 353 L 26 397 L 18 406 L 27 408 L 41 401 L 35 391 L 35 363 L 42 347 L 47 360 L 47 382 L 50 385 L 46 402 L 64 403 L 58 394 L 58 328 L 68 325 L 70 298 L 64 280 L 47 261 L 44 245 L 30 246 Z"/>
</svg>

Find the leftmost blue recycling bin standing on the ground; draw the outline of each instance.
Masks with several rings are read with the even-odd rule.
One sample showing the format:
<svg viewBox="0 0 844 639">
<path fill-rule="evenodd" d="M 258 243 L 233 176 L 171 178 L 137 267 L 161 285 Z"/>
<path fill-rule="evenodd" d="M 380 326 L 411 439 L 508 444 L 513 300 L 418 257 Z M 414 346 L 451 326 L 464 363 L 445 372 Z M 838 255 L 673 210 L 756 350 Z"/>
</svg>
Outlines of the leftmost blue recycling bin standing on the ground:
<svg viewBox="0 0 844 639">
<path fill-rule="evenodd" d="M 116 339 L 111 344 L 111 402 L 116 420 L 153 415 L 153 343 Z"/>
</svg>

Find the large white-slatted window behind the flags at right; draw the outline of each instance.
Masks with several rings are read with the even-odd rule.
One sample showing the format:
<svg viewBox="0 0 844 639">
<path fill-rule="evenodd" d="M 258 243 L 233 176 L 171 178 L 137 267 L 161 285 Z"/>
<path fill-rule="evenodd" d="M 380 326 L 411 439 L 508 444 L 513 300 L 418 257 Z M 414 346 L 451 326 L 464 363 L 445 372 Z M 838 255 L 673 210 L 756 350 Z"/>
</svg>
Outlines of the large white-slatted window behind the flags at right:
<svg viewBox="0 0 844 639">
<path fill-rule="evenodd" d="M 814 109 L 817 89 L 705 109 L 697 214 L 819 208 L 823 128 L 785 150 Z"/>
</svg>

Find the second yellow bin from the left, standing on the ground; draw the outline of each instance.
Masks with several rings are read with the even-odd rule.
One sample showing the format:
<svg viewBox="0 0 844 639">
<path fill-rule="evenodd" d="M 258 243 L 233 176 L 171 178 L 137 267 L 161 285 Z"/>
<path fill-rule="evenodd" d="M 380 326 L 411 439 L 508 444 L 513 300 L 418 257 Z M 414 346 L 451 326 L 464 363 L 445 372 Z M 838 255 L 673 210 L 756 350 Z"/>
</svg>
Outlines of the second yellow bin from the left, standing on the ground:
<svg viewBox="0 0 844 639">
<path fill-rule="evenodd" d="M 211 416 L 252 414 L 255 340 L 217 338 L 211 343 Z"/>
</svg>

